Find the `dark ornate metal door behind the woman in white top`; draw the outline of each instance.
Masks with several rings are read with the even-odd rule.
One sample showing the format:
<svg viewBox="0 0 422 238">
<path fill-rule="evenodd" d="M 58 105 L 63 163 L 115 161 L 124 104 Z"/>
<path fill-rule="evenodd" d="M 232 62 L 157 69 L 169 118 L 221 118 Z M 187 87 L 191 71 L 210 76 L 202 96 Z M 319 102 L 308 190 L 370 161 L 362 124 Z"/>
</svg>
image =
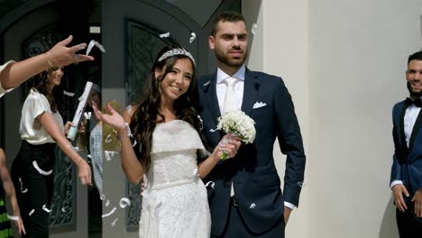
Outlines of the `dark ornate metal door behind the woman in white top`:
<svg viewBox="0 0 422 238">
<path fill-rule="evenodd" d="M 79 0 L 77 2 L 80 2 Z M 88 0 L 82 6 L 87 6 Z M 75 22 L 69 21 L 69 14 L 63 11 L 71 8 L 64 6 L 76 4 L 75 1 L 26 0 L 5 1 L 1 5 L 0 44 L 2 63 L 5 59 L 26 59 L 49 50 L 58 41 L 70 33 L 74 41 L 87 41 L 87 14 L 78 15 Z M 7 8 L 7 11 L 5 10 Z M 87 10 L 87 9 L 86 9 Z M 80 27 L 82 30 L 78 30 Z M 60 87 L 80 95 L 87 77 L 87 64 L 69 66 L 65 69 Z M 69 88 L 69 89 L 68 89 Z M 25 85 L 2 98 L 1 134 L 2 146 L 7 152 L 7 162 L 10 166 L 19 150 L 19 118 L 23 100 L 28 88 Z M 78 98 L 65 98 L 67 106 L 64 120 L 71 117 L 78 105 Z M 7 106 L 5 106 L 7 105 Z M 5 113 L 6 112 L 6 113 Z M 64 113 L 64 114 L 63 114 Z M 83 152 L 82 156 L 86 156 Z M 10 167 L 9 167 L 10 168 Z M 56 151 L 54 168 L 54 192 L 50 212 L 50 237 L 88 237 L 87 233 L 87 187 L 78 182 L 74 164 L 60 150 Z"/>
</svg>

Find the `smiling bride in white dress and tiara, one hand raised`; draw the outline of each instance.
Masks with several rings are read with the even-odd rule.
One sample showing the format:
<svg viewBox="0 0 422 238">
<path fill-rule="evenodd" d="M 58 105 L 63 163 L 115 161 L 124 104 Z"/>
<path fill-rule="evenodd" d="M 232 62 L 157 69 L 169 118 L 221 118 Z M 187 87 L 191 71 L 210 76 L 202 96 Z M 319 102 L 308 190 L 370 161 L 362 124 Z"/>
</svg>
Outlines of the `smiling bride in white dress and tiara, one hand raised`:
<svg viewBox="0 0 422 238">
<path fill-rule="evenodd" d="M 133 184 L 144 180 L 140 237 L 208 238 L 211 218 L 200 178 L 216 166 L 223 151 L 232 158 L 240 146 L 229 140 L 211 154 L 206 151 L 193 105 L 195 67 L 187 50 L 166 47 L 154 62 L 145 99 L 133 113 L 130 127 L 110 105 L 109 114 L 94 110 L 99 120 L 119 133 L 126 177 Z"/>
</svg>

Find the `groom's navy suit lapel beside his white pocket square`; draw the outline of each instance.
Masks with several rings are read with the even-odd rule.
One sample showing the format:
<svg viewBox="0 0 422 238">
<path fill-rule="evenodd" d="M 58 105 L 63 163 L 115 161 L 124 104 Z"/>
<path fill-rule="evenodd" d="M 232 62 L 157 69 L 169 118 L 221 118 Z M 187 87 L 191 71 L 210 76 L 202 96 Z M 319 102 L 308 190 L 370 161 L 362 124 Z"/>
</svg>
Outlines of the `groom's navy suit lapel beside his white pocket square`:
<svg viewBox="0 0 422 238">
<path fill-rule="evenodd" d="M 256 102 L 255 98 L 258 95 L 258 90 L 260 89 L 258 75 L 251 70 L 246 69 L 243 87 L 242 111 L 245 114 L 251 115 L 253 105 Z"/>
</svg>

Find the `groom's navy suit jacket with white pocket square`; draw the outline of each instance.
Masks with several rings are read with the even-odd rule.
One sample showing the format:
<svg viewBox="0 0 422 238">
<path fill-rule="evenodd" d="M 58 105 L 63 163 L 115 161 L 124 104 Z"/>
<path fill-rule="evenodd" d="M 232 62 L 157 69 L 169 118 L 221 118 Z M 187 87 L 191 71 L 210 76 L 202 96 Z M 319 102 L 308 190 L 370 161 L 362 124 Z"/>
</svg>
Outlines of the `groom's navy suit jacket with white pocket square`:
<svg viewBox="0 0 422 238">
<path fill-rule="evenodd" d="M 198 80 L 198 93 L 206 140 L 214 148 L 224 135 L 212 132 L 220 116 L 216 73 Z M 220 161 L 204 179 L 205 183 L 215 182 L 214 188 L 207 189 L 213 235 L 223 233 L 227 223 L 232 181 L 238 210 L 253 233 L 268 231 L 282 222 L 284 201 L 298 206 L 305 152 L 291 96 L 282 79 L 246 69 L 242 111 L 255 121 L 255 141 L 242 144 L 233 159 Z M 287 155 L 284 194 L 272 155 L 276 138 L 281 152 Z"/>
</svg>

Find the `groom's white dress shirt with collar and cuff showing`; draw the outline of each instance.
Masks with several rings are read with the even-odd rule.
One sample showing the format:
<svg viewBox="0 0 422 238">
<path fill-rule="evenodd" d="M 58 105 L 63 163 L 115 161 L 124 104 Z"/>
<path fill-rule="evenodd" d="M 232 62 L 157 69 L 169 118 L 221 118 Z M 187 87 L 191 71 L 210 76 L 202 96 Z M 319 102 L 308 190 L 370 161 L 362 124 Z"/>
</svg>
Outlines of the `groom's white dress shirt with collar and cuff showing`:
<svg viewBox="0 0 422 238">
<path fill-rule="evenodd" d="M 216 74 L 216 95 L 218 99 L 218 107 L 220 108 L 220 113 L 223 114 L 223 109 L 225 105 L 225 93 L 227 92 L 227 86 L 225 85 L 225 78 L 228 77 L 234 77 L 238 78 L 239 80 L 234 85 L 234 93 L 235 97 L 237 99 L 237 109 L 241 110 L 242 108 L 242 101 L 243 101 L 243 88 L 244 88 L 244 76 L 246 73 L 246 67 L 243 65 L 237 72 L 234 73 L 234 75 L 227 75 L 223 70 L 217 69 Z M 234 193 L 233 190 L 233 184 L 232 184 L 232 193 Z M 290 209 L 295 208 L 293 204 L 289 202 L 284 202 L 284 206 L 289 207 Z"/>
</svg>

